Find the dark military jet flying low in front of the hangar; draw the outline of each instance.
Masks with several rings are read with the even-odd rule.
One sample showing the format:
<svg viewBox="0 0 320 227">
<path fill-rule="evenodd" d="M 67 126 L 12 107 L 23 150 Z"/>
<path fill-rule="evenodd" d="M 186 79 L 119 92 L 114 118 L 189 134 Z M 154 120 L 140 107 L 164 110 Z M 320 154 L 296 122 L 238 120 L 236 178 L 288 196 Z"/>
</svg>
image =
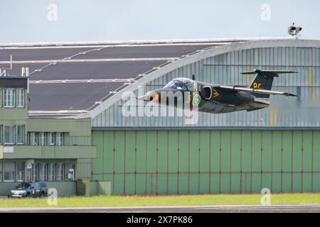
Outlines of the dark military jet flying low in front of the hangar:
<svg viewBox="0 0 320 227">
<path fill-rule="evenodd" d="M 279 74 L 297 73 L 285 70 L 253 70 L 241 74 L 256 74 L 249 87 L 227 86 L 198 82 L 192 79 L 176 78 L 161 89 L 147 92 L 137 99 L 152 101 L 181 109 L 197 107 L 198 111 L 223 114 L 233 111 L 255 111 L 270 105 L 270 94 L 297 96 L 289 92 L 271 91 L 274 77 Z"/>
</svg>

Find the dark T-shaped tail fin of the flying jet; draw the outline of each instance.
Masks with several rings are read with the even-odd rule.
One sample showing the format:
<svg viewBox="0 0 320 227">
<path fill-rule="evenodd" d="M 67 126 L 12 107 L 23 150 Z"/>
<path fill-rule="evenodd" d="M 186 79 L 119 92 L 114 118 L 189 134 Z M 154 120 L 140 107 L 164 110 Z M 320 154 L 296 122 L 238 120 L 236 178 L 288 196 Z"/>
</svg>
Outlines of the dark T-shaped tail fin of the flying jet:
<svg viewBox="0 0 320 227">
<path fill-rule="evenodd" d="M 253 70 L 249 72 L 240 72 L 241 74 L 256 74 L 249 88 L 271 90 L 274 77 L 279 77 L 279 74 L 296 73 L 286 70 Z M 270 94 L 255 94 L 257 98 L 269 98 Z"/>
</svg>

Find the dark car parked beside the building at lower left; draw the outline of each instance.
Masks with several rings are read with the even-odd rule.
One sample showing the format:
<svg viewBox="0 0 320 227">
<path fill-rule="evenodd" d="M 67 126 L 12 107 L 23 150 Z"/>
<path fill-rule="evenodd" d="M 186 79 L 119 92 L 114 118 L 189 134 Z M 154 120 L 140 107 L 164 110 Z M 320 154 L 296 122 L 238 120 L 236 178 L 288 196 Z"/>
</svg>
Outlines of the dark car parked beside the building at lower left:
<svg viewBox="0 0 320 227">
<path fill-rule="evenodd" d="M 21 182 L 11 190 L 11 197 L 44 197 L 48 196 L 46 182 Z"/>
</svg>

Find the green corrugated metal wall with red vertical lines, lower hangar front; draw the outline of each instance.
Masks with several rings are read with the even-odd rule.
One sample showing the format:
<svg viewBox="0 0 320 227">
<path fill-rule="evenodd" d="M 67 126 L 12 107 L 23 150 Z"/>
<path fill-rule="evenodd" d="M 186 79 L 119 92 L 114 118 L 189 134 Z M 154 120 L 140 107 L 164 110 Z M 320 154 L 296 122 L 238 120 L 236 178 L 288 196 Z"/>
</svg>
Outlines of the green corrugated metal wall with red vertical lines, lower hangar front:
<svg viewBox="0 0 320 227">
<path fill-rule="evenodd" d="M 92 179 L 113 194 L 320 192 L 320 131 L 93 131 L 92 141 Z"/>
</svg>

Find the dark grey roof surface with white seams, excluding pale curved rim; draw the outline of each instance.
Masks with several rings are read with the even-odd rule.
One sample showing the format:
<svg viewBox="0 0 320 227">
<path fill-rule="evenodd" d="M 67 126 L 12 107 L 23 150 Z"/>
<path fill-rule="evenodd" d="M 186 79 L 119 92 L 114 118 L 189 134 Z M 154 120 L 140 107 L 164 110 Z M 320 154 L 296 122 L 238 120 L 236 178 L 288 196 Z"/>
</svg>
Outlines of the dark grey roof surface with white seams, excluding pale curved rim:
<svg viewBox="0 0 320 227">
<path fill-rule="evenodd" d="M 90 111 L 145 75 L 176 60 L 239 40 L 6 45 L 0 67 L 29 67 L 29 111 Z"/>
</svg>

